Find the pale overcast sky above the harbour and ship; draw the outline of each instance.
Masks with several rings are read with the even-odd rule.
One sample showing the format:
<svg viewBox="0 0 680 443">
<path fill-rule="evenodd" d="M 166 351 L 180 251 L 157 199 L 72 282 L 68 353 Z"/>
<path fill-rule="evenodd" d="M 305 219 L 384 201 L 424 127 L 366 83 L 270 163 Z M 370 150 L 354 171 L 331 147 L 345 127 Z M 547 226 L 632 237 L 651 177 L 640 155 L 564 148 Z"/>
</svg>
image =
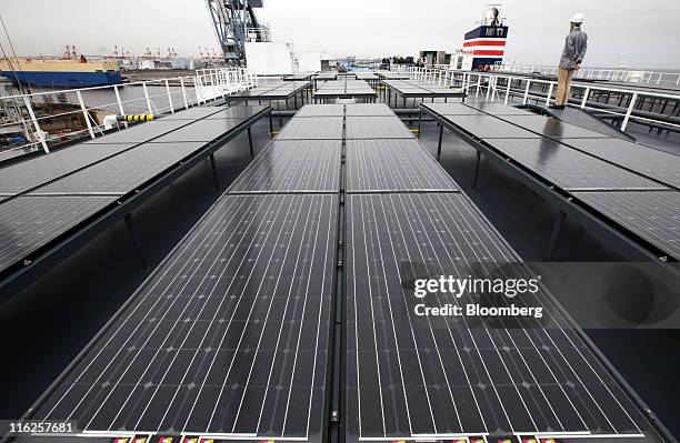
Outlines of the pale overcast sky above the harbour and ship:
<svg viewBox="0 0 680 443">
<path fill-rule="evenodd" d="M 264 0 L 256 11 L 273 39 L 291 39 L 296 51 L 383 57 L 460 48 L 489 2 Z M 507 0 L 507 59 L 556 64 L 574 12 L 587 18 L 584 64 L 680 69 L 678 0 Z M 180 56 L 218 49 L 204 0 L 0 0 L 0 13 L 20 54 L 57 56 L 67 43 L 87 54 L 111 53 L 113 44 L 137 54 L 147 47 Z M 6 46 L 4 36 L 0 41 Z"/>
</svg>

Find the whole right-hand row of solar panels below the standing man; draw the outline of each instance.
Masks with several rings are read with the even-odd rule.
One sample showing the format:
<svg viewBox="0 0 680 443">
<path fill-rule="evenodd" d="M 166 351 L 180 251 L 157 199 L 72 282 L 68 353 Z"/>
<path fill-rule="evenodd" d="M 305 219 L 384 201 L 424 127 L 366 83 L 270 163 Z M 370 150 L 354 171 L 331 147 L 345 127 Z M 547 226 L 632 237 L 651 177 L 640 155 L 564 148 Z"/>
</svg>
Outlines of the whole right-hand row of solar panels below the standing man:
<svg viewBox="0 0 680 443">
<path fill-rule="evenodd" d="M 668 212 L 677 205 L 669 187 L 680 184 L 680 158 L 501 103 L 462 107 L 484 114 L 466 114 L 461 108 L 441 103 L 422 104 L 446 124 L 577 197 L 594 213 L 630 232 L 629 236 L 657 248 L 664 260 L 680 258 L 677 217 Z"/>
</svg>

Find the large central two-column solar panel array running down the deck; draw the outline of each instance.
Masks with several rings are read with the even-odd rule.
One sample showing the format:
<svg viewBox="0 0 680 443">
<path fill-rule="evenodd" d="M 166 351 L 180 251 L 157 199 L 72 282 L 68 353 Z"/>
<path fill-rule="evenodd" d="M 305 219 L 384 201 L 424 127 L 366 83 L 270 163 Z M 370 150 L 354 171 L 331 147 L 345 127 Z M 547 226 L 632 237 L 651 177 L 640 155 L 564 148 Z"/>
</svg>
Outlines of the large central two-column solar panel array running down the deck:
<svg viewBox="0 0 680 443">
<path fill-rule="evenodd" d="M 647 432 L 544 293 L 513 299 L 546 309 L 542 322 L 411 318 L 414 278 L 527 270 L 420 142 L 399 137 L 408 133 L 402 123 L 349 137 L 352 125 L 363 128 L 359 119 L 396 115 L 300 112 L 307 117 L 280 134 L 299 139 L 279 137 L 260 153 L 31 419 L 72 421 L 86 436 L 143 430 L 159 439 L 320 442 L 330 425 L 338 294 L 347 441 Z M 339 138 L 317 129 L 327 123 Z M 338 282 L 341 178 L 349 193 Z"/>
</svg>

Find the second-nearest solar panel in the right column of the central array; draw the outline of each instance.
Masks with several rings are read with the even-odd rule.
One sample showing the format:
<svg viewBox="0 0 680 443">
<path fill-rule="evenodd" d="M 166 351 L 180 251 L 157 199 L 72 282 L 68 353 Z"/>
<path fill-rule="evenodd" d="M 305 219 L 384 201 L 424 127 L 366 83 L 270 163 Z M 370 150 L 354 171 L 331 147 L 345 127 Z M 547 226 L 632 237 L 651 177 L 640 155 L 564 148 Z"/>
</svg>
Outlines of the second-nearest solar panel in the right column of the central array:
<svg viewBox="0 0 680 443">
<path fill-rule="evenodd" d="M 347 192 L 458 191 L 413 139 L 347 141 Z"/>
</svg>

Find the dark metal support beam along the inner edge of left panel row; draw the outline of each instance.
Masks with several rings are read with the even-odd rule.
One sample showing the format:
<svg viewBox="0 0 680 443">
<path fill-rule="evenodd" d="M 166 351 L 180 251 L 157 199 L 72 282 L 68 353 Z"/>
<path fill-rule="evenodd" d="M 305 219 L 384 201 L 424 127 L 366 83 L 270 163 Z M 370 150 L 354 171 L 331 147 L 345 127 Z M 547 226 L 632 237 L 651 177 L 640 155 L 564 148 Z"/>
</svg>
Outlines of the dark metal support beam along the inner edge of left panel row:
<svg viewBox="0 0 680 443">
<path fill-rule="evenodd" d="M 177 163 L 164 174 L 151 180 L 144 187 L 122 195 L 118 201 L 114 201 L 109 207 L 102 209 L 98 214 L 93 215 L 88 223 L 67 231 L 46 244 L 43 249 L 37 251 L 34 255 L 26 256 L 28 264 L 22 265 L 19 263 L 1 272 L 0 302 L 8 300 L 28 284 L 34 282 L 56 264 L 60 263 L 70 254 L 86 245 L 90 240 L 134 211 L 167 185 L 183 175 L 199 162 L 203 161 L 209 154 L 222 148 L 226 143 L 242 133 L 243 130 L 249 129 L 270 112 L 271 108 L 263 109 L 259 113 L 252 115 L 250 120 L 233 128 L 223 137 L 208 143 L 203 149 L 194 152 L 190 158 Z"/>
</svg>

